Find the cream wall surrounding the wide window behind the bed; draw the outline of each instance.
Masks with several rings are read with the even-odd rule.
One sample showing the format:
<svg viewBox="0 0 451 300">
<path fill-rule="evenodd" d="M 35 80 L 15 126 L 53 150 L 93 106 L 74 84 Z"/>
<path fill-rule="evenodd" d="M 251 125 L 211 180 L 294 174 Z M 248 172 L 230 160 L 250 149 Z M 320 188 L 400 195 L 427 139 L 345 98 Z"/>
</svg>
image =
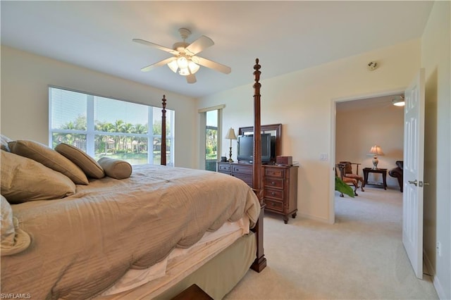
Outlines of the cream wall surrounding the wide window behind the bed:
<svg viewBox="0 0 451 300">
<path fill-rule="evenodd" d="M 49 143 L 48 85 L 175 110 L 175 165 L 194 168 L 197 157 L 195 101 L 147 85 L 1 46 L 1 133 Z M 190 113 L 192 112 L 192 113 Z"/>
</svg>

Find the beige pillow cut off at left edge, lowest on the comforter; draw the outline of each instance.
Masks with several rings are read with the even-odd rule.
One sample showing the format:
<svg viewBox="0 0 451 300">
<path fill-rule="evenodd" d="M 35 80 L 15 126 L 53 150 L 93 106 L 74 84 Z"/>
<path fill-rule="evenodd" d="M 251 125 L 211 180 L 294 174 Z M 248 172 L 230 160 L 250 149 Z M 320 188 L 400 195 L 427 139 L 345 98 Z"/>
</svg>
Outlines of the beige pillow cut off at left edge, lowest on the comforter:
<svg viewBox="0 0 451 300">
<path fill-rule="evenodd" d="M 13 209 L 3 195 L 1 197 L 1 256 L 17 254 L 30 246 L 27 232 L 19 228 L 18 219 L 13 217 Z"/>
</svg>

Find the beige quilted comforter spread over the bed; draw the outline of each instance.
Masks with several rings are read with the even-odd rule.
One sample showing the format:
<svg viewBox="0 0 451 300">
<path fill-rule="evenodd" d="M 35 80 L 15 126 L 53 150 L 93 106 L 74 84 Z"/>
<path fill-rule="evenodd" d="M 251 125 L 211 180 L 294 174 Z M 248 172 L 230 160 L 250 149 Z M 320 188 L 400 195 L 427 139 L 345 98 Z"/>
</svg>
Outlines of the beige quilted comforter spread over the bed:
<svg viewBox="0 0 451 300">
<path fill-rule="evenodd" d="M 87 299 L 129 268 L 147 268 L 226 220 L 246 214 L 254 225 L 259 212 L 252 189 L 235 177 L 135 166 L 125 180 L 105 177 L 65 199 L 14 205 L 32 243 L 1 258 L 1 293 Z"/>
</svg>

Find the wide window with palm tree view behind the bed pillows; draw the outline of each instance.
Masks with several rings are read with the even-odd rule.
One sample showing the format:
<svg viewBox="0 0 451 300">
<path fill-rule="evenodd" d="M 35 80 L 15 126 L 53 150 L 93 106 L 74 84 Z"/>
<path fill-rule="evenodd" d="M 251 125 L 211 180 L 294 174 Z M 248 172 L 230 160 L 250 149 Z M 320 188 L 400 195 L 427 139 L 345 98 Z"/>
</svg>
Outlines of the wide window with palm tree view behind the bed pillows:
<svg viewBox="0 0 451 300">
<path fill-rule="evenodd" d="M 173 125 L 174 111 L 166 109 L 168 165 L 173 165 Z M 161 108 L 49 87 L 49 145 L 60 143 L 96 161 L 108 156 L 132 165 L 159 164 Z"/>
</svg>

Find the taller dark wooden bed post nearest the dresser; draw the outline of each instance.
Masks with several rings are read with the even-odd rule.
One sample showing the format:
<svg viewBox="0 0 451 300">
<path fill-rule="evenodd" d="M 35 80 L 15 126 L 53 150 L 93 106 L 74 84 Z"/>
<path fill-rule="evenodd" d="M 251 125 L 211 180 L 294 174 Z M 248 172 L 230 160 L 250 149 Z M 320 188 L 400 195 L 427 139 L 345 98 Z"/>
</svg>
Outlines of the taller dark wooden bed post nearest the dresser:
<svg viewBox="0 0 451 300">
<path fill-rule="evenodd" d="M 264 200 L 263 189 L 261 189 L 261 119 L 260 119 L 260 68 L 259 58 L 255 59 L 254 65 L 254 169 L 252 172 L 252 187 L 261 205 L 261 211 L 257 225 L 254 231 L 257 235 L 257 258 L 252 263 L 251 268 L 257 272 L 261 272 L 266 267 L 266 258 L 263 249 L 263 218 L 264 218 Z"/>
</svg>

